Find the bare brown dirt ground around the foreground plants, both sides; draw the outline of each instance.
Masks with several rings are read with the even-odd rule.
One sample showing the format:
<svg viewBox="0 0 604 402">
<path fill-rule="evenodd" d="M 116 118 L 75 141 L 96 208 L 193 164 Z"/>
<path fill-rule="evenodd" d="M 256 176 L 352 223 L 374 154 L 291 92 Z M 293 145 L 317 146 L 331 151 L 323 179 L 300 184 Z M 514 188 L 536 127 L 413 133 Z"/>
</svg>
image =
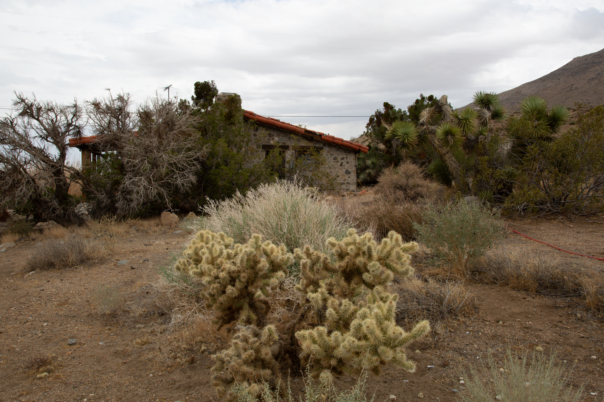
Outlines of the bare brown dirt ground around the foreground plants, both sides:
<svg viewBox="0 0 604 402">
<path fill-rule="evenodd" d="M 597 222 L 554 220 L 508 221 L 510 228 L 566 250 L 604 257 L 604 225 Z M 0 253 L 0 401 L 219 401 L 211 387 L 208 357 L 198 353 L 178 365 L 161 359 L 170 338 L 169 316 L 158 311 L 154 284 L 158 267 L 188 242 L 177 227 L 159 233 L 132 232 L 118 243 L 109 259 L 70 269 L 28 274 L 25 262 L 36 241 L 18 242 Z M 184 236 L 183 236 L 184 235 Z M 504 245 L 581 263 L 585 257 L 556 251 L 517 234 Z M 127 260 L 123 265 L 118 261 Z M 597 263 L 597 262 L 594 262 Z M 108 315 L 98 307 L 100 286 L 119 289 L 129 313 Z M 464 392 L 460 377 L 480 366 L 489 350 L 503 356 L 529 353 L 536 346 L 556 351 L 574 369 L 570 382 L 585 384 L 585 401 L 604 394 L 603 325 L 585 315 L 577 318 L 574 305 L 559 298 L 525 294 L 506 287 L 471 285 L 482 300 L 477 316 L 441 323 L 428 339 L 414 343 L 410 355 L 417 362 L 413 374 L 387 368 L 368 377 L 368 392 L 376 401 L 455 401 Z M 96 299 L 95 299 L 96 297 Z M 77 343 L 68 345 L 69 339 Z M 142 339 L 142 341 L 141 341 Z M 25 368 L 35 357 L 55 355 L 56 370 L 38 378 Z M 596 356 L 592 359 L 591 356 Z M 294 390 L 301 377 L 292 373 Z M 338 387 L 355 379 L 343 375 Z M 457 389 L 458 392 L 452 391 Z M 595 394 L 595 395 L 592 395 Z"/>
</svg>

